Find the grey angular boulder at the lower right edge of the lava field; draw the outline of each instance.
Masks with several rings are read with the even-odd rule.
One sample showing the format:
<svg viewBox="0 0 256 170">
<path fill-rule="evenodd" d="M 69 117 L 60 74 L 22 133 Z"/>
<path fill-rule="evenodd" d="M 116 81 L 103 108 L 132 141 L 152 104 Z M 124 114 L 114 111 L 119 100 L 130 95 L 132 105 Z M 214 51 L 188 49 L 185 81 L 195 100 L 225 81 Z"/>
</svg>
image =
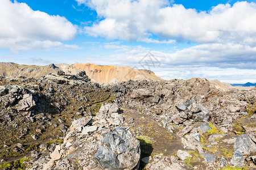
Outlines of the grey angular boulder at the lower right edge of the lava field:
<svg viewBox="0 0 256 170">
<path fill-rule="evenodd" d="M 234 150 L 240 151 L 243 155 L 249 155 L 250 152 L 256 151 L 256 144 L 247 134 L 241 134 L 234 143 Z"/>
</svg>

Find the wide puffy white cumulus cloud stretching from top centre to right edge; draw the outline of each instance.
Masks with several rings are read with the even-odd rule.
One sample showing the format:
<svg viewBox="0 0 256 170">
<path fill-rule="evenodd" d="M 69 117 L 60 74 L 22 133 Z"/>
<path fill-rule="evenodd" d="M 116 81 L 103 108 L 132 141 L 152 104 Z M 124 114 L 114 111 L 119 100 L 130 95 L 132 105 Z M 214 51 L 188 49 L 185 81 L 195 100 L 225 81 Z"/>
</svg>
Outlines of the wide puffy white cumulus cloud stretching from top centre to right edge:
<svg viewBox="0 0 256 170">
<path fill-rule="evenodd" d="M 256 44 L 256 4 L 220 4 L 209 11 L 186 9 L 167 0 L 76 0 L 102 20 L 85 32 L 108 39 L 144 40 L 152 34 L 168 40 Z"/>
</svg>

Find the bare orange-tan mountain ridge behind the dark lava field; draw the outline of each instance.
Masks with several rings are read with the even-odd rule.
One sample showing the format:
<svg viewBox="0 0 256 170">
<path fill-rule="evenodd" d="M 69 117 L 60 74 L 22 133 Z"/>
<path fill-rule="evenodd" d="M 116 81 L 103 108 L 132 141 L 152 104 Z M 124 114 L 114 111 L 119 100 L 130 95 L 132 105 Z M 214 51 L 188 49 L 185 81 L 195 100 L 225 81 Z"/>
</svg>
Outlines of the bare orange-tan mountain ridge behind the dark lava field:
<svg viewBox="0 0 256 170">
<path fill-rule="evenodd" d="M 26 76 L 39 78 L 49 73 L 57 74 L 64 71 L 67 74 L 76 75 L 80 71 L 85 71 L 92 82 L 96 83 L 118 83 L 127 80 L 162 80 L 152 71 L 137 70 L 131 67 L 101 66 L 91 63 L 51 64 L 48 66 L 18 65 L 16 63 L 0 63 L 0 75 L 3 76 Z"/>
</svg>

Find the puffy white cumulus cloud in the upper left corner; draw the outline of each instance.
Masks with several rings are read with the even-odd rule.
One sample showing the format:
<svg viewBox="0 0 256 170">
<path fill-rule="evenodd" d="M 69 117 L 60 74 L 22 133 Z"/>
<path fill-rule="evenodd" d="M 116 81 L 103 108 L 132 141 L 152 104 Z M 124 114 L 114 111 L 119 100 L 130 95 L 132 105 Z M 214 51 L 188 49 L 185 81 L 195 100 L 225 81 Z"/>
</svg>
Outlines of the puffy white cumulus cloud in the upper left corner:
<svg viewBox="0 0 256 170">
<path fill-rule="evenodd" d="M 28 49 L 77 48 L 59 41 L 75 37 L 75 25 L 59 15 L 33 11 L 26 3 L 0 1 L 0 48 Z"/>
</svg>

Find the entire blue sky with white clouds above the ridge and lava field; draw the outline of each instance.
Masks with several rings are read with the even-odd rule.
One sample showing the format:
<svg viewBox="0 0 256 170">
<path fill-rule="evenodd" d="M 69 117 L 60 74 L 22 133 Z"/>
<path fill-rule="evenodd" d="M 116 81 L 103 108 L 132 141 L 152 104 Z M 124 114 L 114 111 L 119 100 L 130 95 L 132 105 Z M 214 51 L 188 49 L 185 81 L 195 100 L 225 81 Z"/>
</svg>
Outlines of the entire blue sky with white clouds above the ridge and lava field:
<svg viewBox="0 0 256 170">
<path fill-rule="evenodd" d="M 256 82 L 256 0 L 0 0 L 0 62 Z"/>
</svg>

